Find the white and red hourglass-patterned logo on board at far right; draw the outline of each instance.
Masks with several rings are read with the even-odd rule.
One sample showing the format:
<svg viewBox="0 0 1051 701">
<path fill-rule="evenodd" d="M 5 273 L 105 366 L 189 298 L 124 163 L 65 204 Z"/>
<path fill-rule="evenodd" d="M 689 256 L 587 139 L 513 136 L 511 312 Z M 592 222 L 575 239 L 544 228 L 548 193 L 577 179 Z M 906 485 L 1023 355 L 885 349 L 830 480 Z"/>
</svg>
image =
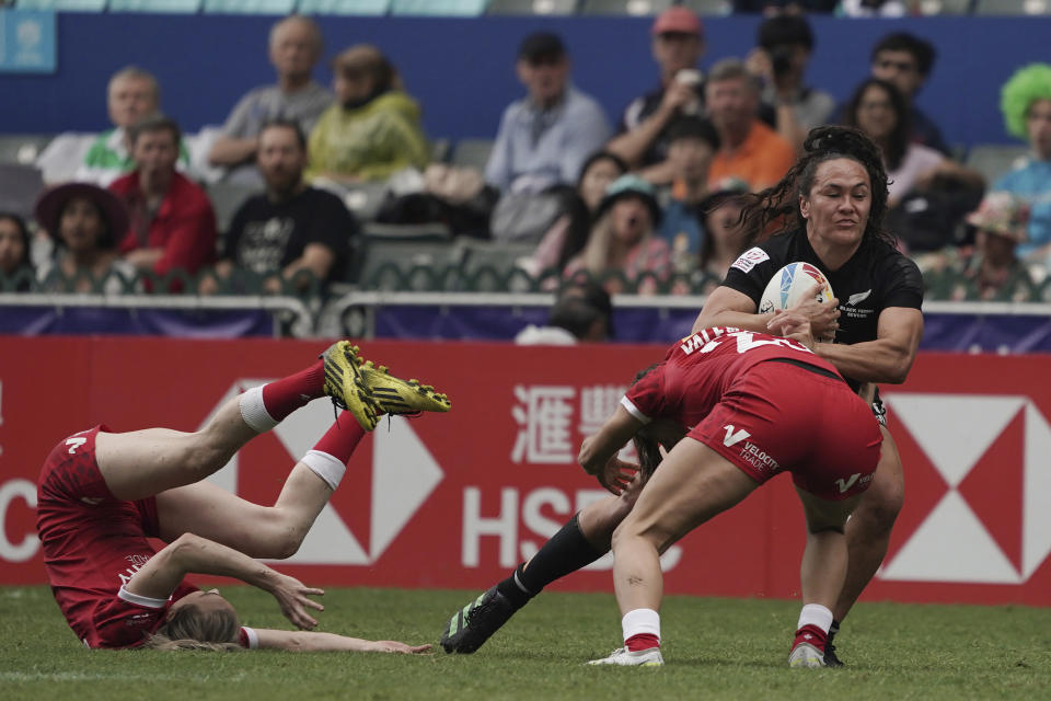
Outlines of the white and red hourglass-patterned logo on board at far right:
<svg viewBox="0 0 1051 701">
<path fill-rule="evenodd" d="M 905 482 L 929 503 L 880 577 L 1021 584 L 1051 553 L 1051 426 L 1024 395 L 894 392 L 897 421 L 926 464 Z M 923 461 L 915 461 L 923 462 Z M 913 480 L 915 478 L 915 480 Z M 911 499 L 911 486 L 906 487 Z"/>
</svg>

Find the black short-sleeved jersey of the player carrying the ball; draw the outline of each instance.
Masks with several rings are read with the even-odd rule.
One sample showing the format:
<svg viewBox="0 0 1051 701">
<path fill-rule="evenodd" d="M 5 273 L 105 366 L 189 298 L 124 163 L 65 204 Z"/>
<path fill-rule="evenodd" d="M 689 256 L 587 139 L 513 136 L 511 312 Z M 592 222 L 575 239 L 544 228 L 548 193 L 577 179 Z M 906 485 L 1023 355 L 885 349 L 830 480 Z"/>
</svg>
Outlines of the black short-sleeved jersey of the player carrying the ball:
<svg viewBox="0 0 1051 701">
<path fill-rule="evenodd" d="M 825 267 L 801 229 L 772 237 L 741 254 L 723 285 L 748 295 L 759 309 L 774 273 L 801 261 L 820 269 L 840 300 L 840 327 L 835 342 L 852 344 L 876 340 L 876 322 L 888 307 L 920 309 L 923 275 L 916 264 L 881 240 L 869 240 L 834 273 Z"/>
</svg>

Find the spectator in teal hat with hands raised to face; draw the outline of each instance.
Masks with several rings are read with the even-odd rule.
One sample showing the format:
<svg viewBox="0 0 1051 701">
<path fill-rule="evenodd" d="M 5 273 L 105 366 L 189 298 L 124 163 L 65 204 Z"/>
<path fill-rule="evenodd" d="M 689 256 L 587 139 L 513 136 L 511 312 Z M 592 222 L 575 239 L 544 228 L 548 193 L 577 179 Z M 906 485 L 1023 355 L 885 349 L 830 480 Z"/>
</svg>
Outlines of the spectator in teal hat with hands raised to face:
<svg viewBox="0 0 1051 701">
<path fill-rule="evenodd" d="M 637 175 L 622 175 L 605 191 L 584 251 L 566 266 L 565 275 L 580 273 L 605 278 L 610 294 L 635 284 L 639 294 L 652 294 L 671 274 L 668 243 L 657 235 L 660 205 L 654 186 Z"/>
</svg>

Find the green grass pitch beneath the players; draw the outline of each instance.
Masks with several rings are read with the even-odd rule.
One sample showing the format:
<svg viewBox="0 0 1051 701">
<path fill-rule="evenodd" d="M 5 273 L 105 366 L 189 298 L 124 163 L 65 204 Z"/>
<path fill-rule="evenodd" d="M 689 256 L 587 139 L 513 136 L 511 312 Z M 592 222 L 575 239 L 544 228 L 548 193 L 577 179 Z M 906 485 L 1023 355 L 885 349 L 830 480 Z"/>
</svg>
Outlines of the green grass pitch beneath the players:
<svg viewBox="0 0 1051 701">
<path fill-rule="evenodd" d="M 229 587 L 249 625 L 269 597 Z M 476 594 L 476 593 L 475 593 Z M 325 630 L 432 642 L 467 591 L 332 589 Z M 89 651 L 45 587 L 0 588 L 0 699 L 1051 699 L 1051 609 L 859 605 L 844 669 L 789 670 L 793 601 L 669 597 L 666 666 L 582 663 L 620 643 L 611 595 L 545 593 L 471 656 Z"/>
</svg>

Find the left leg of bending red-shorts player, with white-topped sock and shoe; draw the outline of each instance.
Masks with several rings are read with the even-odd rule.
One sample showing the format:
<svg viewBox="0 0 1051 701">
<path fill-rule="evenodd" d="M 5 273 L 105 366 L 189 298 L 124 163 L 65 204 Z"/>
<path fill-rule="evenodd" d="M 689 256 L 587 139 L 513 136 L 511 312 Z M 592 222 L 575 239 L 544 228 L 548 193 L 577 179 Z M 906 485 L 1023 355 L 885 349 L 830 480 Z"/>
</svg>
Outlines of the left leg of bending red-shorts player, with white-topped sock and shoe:
<svg viewBox="0 0 1051 701">
<path fill-rule="evenodd" d="M 613 586 L 624 647 L 591 664 L 660 665 L 660 554 L 759 484 L 692 438 L 681 440 L 654 473 L 613 533 Z"/>
</svg>

